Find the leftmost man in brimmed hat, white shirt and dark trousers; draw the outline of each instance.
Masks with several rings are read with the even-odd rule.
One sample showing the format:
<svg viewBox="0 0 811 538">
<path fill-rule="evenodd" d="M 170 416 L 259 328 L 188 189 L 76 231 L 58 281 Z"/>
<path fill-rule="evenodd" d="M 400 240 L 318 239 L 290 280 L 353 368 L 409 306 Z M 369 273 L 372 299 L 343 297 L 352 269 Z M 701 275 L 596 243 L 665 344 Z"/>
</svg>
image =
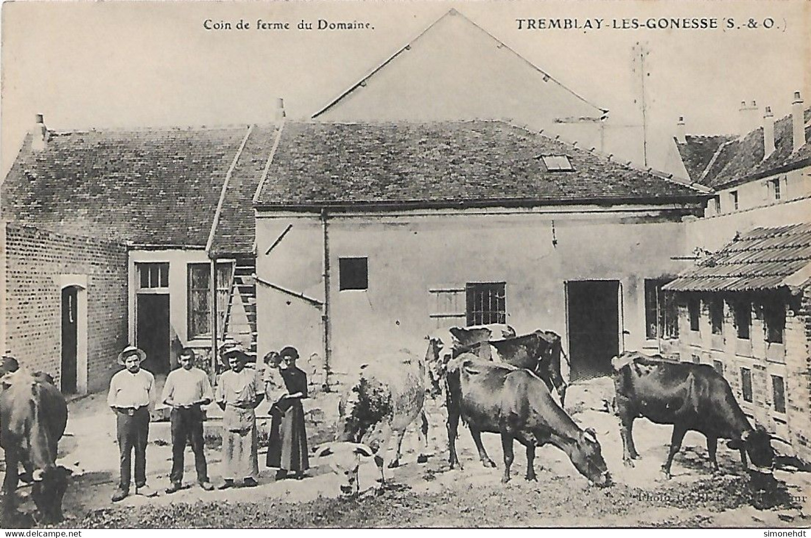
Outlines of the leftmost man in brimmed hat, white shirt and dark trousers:
<svg viewBox="0 0 811 538">
<path fill-rule="evenodd" d="M 121 453 L 121 479 L 113 502 L 130 493 L 131 454 L 135 449 L 135 494 L 152 497 L 147 486 L 147 440 L 149 437 L 149 404 L 155 394 L 155 377 L 141 369 L 147 358 L 144 351 L 127 346 L 118 354 L 124 369 L 109 381 L 107 405 L 115 412 L 118 451 Z"/>
</svg>

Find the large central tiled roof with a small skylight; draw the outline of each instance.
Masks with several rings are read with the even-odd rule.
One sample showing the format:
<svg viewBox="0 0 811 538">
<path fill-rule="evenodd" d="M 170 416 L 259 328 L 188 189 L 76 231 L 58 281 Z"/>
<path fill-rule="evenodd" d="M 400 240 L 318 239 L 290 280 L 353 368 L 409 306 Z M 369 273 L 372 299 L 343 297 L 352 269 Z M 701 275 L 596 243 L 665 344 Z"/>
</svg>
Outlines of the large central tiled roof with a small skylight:
<svg viewBox="0 0 811 538">
<path fill-rule="evenodd" d="M 567 155 L 549 172 L 541 155 Z M 698 202 L 702 192 L 497 121 L 286 123 L 257 206 Z"/>
</svg>

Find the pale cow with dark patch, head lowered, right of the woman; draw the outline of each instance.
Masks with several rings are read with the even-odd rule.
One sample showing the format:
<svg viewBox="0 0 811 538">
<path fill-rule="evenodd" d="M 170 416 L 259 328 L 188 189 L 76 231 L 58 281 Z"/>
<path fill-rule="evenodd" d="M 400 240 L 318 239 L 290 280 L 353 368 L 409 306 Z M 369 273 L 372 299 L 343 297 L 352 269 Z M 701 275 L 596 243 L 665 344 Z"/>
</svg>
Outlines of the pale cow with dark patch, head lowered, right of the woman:
<svg viewBox="0 0 811 538">
<path fill-rule="evenodd" d="M 429 346 L 429 352 L 432 351 Z M 420 420 L 420 446 L 428 444 L 428 420 L 423 410 L 426 383 L 425 361 L 409 351 L 380 357 L 362 367 L 357 381 L 341 398 L 336 441 L 316 447 L 318 457 L 333 456 L 333 471 L 343 476 L 342 493 L 358 493 L 360 458 L 374 455 L 384 483 L 384 458 L 389 449 L 394 456 L 388 467 L 400 465 L 400 450 L 406 428 Z M 418 463 L 427 462 L 421 452 Z"/>
</svg>

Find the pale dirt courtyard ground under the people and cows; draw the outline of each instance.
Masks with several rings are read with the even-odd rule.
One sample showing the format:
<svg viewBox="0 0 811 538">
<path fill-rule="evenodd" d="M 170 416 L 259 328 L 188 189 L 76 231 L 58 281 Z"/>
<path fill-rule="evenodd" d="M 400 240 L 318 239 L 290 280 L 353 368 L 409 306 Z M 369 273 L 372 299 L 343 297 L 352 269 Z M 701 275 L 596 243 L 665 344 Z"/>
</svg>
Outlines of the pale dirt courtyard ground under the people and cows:
<svg viewBox="0 0 811 538">
<path fill-rule="evenodd" d="M 573 385 L 567 410 L 582 427 L 594 427 L 603 447 L 611 488 L 588 485 L 566 455 L 552 446 L 538 450 L 537 482 L 524 480 L 526 458 L 516 446 L 513 480 L 501 484 L 500 438 L 485 434 L 488 453 L 498 467 L 485 468 L 466 428 L 457 442 L 464 465 L 448 468 L 444 407 L 430 402 L 429 460 L 416 463 L 416 435 L 403 444 L 402 465 L 387 470 L 388 484 L 380 488 L 371 460 L 360 469 L 358 499 L 338 498 L 337 477 L 328 463 L 313 459 L 303 480 L 273 478 L 264 468 L 260 450 L 260 486 L 205 492 L 196 485 L 171 495 L 171 449 L 166 425 L 152 424 L 148 446 L 148 484 L 161 494 L 110 501 L 118 480 L 115 418 L 104 394 L 70 404 L 70 419 L 60 451 L 67 463 L 83 469 L 71 478 L 64 500 L 62 527 L 803 527 L 811 524 L 811 473 L 784 467 L 775 471 L 778 487 L 766 497 L 749 484 L 736 452 L 719 445 L 722 476 L 712 476 L 704 437 L 689 433 L 664 480 L 659 467 L 667 454 L 671 427 L 637 420 L 634 438 L 642 458 L 633 468 L 622 463 L 619 424 L 606 401 L 613 388 L 607 379 Z M 333 432 L 337 394 L 319 394 L 305 402 L 311 410 L 311 446 L 328 441 Z M 260 407 L 266 411 L 267 405 Z M 209 474 L 219 484 L 220 451 L 207 450 Z M 193 456 L 187 450 L 186 484 L 195 484 Z M 19 489 L 25 497 L 27 488 Z M 24 508 L 31 508 L 31 503 Z"/>
</svg>

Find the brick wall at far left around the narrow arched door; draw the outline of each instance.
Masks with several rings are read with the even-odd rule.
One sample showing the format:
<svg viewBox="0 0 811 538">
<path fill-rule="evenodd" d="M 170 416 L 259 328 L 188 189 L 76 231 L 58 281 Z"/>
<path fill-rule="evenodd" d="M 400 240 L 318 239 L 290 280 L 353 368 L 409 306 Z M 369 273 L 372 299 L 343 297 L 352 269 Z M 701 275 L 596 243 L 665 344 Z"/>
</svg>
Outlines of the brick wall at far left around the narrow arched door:
<svg viewBox="0 0 811 538">
<path fill-rule="evenodd" d="M 88 391 L 104 390 L 127 345 L 127 249 L 17 223 L 6 224 L 6 348 L 59 381 L 62 275 L 87 282 Z"/>
</svg>

